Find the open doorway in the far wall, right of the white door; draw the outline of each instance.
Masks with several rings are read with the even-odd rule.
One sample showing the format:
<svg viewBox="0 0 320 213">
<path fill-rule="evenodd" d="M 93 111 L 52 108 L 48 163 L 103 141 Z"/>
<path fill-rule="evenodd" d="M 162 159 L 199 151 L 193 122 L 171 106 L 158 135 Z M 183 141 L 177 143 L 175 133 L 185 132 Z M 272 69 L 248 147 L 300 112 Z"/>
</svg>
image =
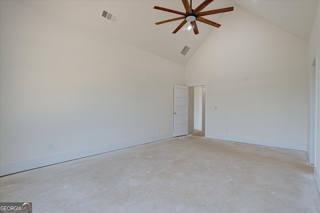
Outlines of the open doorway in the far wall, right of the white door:
<svg viewBox="0 0 320 213">
<path fill-rule="evenodd" d="M 189 86 L 188 92 L 188 133 L 192 136 L 205 137 L 206 86 Z"/>
</svg>

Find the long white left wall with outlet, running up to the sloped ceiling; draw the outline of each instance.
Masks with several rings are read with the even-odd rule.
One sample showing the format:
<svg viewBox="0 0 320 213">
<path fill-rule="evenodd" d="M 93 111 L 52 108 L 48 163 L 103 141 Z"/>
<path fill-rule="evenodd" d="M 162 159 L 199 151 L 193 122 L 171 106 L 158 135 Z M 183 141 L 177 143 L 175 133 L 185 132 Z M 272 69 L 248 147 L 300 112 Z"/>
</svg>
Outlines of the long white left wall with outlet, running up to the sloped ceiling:
<svg viewBox="0 0 320 213">
<path fill-rule="evenodd" d="M 182 65 L 0 3 L 1 176 L 172 137 Z"/>
</svg>

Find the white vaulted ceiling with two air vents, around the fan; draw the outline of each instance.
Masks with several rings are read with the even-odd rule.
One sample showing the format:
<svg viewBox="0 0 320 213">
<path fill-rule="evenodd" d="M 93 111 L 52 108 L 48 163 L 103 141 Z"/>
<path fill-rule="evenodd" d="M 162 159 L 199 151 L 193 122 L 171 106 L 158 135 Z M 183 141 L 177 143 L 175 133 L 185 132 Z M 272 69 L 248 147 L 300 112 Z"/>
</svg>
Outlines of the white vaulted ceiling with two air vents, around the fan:
<svg viewBox="0 0 320 213">
<path fill-rule="evenodd" d="M 192 9 L 202 1 L 192 0 Z M 180 15 L 156 10 L 153 6 L 184 12 L 181 0 L 18 0 L 18 2 L 70 24 L 95 31 L 106 39 L 111 37 L 121 40 L 182 65 L 187 63 L 211 30 L 218 30 L 197 22 L 199 30 L 197 35 L 192 30 L 187 30 L 189 23 L 176 34 L 172 34 L 181 20 L 154 24 Z M 318 0 L 214 0 L 202 11 L 230 6 L 236 9 L 240 6 L 307 42 L 318 3 Z M 116 23 L 101 16 L 103 9 L 118 16 Z M 219 22 L 222 15 L 228 13 L 208 15 L 205 18 Z M 189 46 L 190 50 L 186 55 L 182 55 L 180 52 L 185 45 Z"/>
</svg>

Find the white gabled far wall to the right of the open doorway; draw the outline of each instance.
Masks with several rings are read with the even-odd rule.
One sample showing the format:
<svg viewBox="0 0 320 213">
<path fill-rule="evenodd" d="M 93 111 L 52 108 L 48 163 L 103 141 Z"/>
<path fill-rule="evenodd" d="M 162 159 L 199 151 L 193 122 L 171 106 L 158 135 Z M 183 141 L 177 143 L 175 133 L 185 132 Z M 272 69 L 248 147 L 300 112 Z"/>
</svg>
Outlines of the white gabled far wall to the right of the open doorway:
<svg viewBox="0 0 320 213">
<path fill-rule="evenodd" d="M 305 151 L 307 43 L 238 6 L 219 23 L 185 66 L 208 83 L 206 137 Z"/>
</svg>

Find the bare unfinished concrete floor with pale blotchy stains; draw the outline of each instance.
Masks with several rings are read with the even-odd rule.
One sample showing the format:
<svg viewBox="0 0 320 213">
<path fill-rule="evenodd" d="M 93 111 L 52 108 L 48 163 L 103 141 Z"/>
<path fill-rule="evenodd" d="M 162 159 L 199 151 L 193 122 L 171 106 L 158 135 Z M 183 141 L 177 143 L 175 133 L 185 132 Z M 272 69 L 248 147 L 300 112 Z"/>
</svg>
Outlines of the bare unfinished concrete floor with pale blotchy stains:
<svg viewBox="0 0 320 213">
<path fill-rule="evenodd" d="M 192 135 L 0 178 L 33 213 L 319 212 L 305 152 Z"/>
</svg>

